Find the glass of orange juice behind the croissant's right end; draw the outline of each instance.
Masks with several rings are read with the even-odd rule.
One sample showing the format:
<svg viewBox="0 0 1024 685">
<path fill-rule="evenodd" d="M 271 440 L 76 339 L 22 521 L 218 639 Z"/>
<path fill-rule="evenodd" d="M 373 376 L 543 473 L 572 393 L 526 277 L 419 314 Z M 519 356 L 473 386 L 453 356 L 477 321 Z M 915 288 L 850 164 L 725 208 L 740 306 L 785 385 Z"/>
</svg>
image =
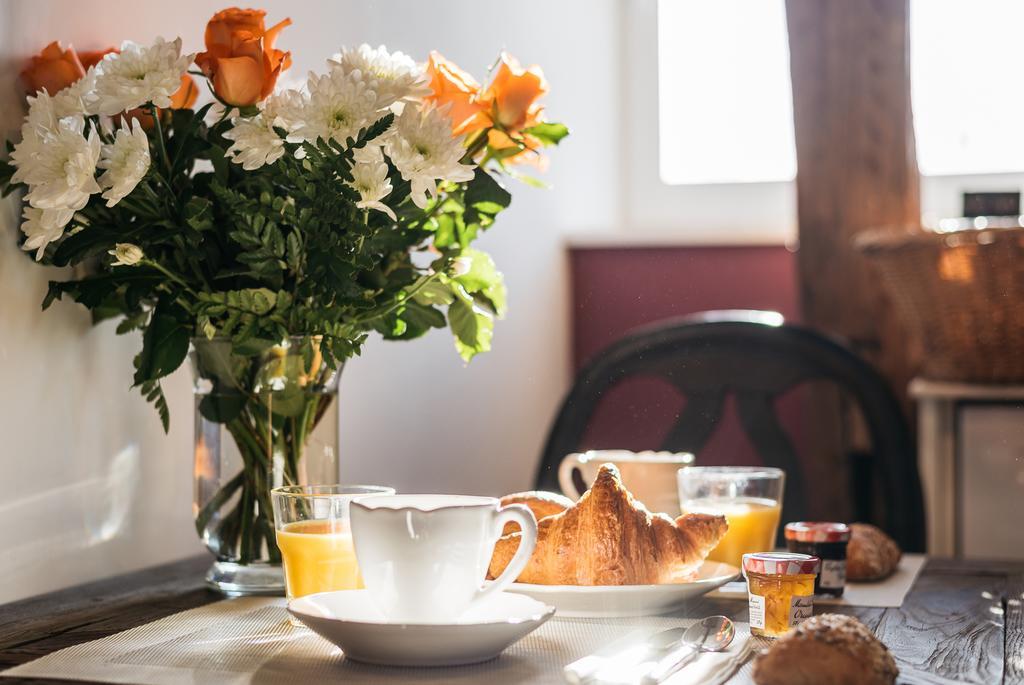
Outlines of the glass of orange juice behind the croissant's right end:
<svg viewBox="0 0 1024 685">
<path fill-rule="evenodd" d="M 739 568 L 743 555 L 775 549 L 785 473 L 745 466 L 688 466 L 679 470 L 684 513 L 722 514 L 729 530 L 709 559 Z"/>
</svg>

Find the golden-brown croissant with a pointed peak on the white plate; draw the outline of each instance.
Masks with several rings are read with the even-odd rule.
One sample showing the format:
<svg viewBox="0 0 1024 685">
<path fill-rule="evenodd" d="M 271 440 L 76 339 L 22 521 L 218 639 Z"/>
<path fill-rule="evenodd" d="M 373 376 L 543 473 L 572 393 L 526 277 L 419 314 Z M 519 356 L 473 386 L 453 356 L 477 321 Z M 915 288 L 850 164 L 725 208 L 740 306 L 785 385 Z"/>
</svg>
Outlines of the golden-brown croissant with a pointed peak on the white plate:
<svg viewBox="0 0 1024 685">
<path fill-rule="evenodd" d="M 519 583 L 654 585 L 683 583 L 696 572 L 729 525 L 724 516 L 652 514 L 603 464 L 594 485 L 571 508 L 538 523 L 537 547 Z M 497 577 L 521 533 L 499 539 L 489 574 Z"/>
</svg>

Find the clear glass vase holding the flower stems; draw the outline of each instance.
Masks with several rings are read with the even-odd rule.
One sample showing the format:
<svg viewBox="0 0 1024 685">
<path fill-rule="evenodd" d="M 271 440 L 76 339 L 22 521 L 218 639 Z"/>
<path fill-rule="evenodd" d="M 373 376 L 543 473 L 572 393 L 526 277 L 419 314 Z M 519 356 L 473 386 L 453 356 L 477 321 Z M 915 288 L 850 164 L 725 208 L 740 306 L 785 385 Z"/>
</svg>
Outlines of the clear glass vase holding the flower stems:
<svg viewBox="0 0 1024 685">
<path fill-rule="evenodd" d="M 270 490 L 338 480 L 340 369 L 315 338 L 233 349 L 193 340 L 193 513 L 215 560 L 207 585 L 228 596 L 283 595 Z"/>
</svg>

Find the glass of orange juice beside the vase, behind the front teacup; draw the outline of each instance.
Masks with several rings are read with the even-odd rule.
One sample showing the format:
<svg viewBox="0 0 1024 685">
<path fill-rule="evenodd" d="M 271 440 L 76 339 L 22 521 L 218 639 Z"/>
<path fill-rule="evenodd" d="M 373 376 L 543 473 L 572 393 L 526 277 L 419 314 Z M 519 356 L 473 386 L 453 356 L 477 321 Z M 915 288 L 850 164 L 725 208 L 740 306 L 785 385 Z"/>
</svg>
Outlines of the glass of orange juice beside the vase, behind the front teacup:
<svg viewBox="0 0 1024 685">
<path fill-rule="evenodd" d="M 348 512 L 353 500 L 372 495 L 394 495 L 394 488 L 288 485 L 270 490 L 289 599 L 362 588 Z"/>
</svg>

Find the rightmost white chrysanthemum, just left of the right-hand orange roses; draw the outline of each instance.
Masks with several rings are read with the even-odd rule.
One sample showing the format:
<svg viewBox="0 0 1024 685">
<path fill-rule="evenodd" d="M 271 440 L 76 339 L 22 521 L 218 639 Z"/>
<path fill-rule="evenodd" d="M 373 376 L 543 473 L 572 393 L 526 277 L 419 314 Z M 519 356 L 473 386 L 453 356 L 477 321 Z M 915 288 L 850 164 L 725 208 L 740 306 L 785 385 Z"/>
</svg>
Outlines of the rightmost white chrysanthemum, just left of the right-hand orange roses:
<svg viewBox="0 0 1024 685">
<path fill-rule="evenodd" d="M 427 206 L 427 196 L 437 196 L 437 181 L 468 181 L 473 167 L 461 163 L 466 154 L 462 136 L 452 136 L 452 122 L 432 103 L 407 106 L 395 119 L 384 143 L 387 156 L 410 181 L 410 197 L 417 207 Z"/>
</svg>

